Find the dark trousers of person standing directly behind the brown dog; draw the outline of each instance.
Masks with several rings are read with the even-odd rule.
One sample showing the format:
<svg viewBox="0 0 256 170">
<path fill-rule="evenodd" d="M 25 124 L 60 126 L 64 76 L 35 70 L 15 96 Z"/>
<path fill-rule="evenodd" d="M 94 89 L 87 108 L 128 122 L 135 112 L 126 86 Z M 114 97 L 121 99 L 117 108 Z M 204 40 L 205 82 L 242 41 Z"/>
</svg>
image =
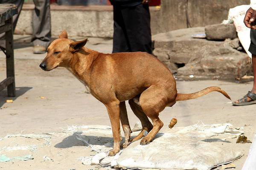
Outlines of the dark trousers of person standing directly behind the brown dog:
<svg viewBox="0 0 256 170">
<path fill-rule="evenodd" d="M 148 5 L 114 5 L 113 13 L 113 53 L 143 51 L 152 54 Z"/>
</svg>

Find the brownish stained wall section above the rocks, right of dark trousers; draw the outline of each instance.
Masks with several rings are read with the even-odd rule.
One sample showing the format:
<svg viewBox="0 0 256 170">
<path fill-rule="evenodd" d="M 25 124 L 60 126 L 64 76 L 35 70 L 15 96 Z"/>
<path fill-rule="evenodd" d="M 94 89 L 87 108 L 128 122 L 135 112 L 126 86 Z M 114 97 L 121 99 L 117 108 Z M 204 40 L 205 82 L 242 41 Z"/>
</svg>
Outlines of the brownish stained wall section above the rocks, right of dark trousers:
<svg viewBox="0 0 256 170">
<path fill-rule="evenodd" d="M 189 27 L 186 2 L 192 27 L 221 23 L 227 19 L 230 8 L 250 4 L 250 0 L 161 0 L 161 32 Z"/>
</svg>

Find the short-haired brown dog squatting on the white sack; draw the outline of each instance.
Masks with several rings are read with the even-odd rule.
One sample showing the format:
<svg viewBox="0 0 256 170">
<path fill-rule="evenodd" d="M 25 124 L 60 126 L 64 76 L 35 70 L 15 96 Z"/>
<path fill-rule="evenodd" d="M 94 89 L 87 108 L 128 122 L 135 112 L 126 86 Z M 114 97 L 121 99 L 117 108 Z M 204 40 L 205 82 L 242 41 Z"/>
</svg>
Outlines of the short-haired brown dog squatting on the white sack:
<svg viewBox="0 0 256 170">
<path fill-rule="evenodd" d="M 166 106 L 172 106 L 180 100 L 195 99 L 212 91 L 218 91 L 230 99 L 218 87 L 209 87 L 193 94 L 177 94 L 172 73 L 156 57 L 145 52 L 102 54 L 85 48 L 86 42 L 87 39 L 73 42 L 67 39 L 67 32 L 63 31 L 49 46 L 40 67 L 45 71 L 57 67 L 67 68 L 106 106 L 114 139 L 110 156 L 120 150 L 122 138 L 119 120 L 125 133 L 123 147 L 141 138 L 140 144 L 148 144 L 163 127 L 158 116 Z M 131 141 L 126 100 L 129 100 L 132 111 L 143 126 L 140 134 Z M 145 130 L 149 133 L 143 137 Z"/>
</svg>

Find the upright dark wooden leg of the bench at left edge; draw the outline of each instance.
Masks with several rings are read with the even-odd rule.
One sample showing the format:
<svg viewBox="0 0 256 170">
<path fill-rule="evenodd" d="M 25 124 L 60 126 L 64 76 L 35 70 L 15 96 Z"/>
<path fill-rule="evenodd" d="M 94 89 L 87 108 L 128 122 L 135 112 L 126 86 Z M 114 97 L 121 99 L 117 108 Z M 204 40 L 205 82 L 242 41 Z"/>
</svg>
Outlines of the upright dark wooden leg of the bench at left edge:
<svg viewBox="0 0 256 170">
<path fill-rule="evenodd" d="M 5 21 L 5 24 L 11 24 L 12 17 Z M 14 52 L 13 52 L 13 28 L 6 31 L 6 75 L 13 77 L 13 82 L 7 86 L 8 96 L 14 97 L 15 94 L 15 71 L 14 71 Z"/>
</svg>

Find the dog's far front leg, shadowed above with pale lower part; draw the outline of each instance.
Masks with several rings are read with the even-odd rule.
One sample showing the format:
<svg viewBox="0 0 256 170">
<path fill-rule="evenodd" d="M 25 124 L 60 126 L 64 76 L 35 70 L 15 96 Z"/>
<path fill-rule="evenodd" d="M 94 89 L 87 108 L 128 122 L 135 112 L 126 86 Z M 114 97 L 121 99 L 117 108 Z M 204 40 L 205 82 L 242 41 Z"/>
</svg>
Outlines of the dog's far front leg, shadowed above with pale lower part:
<svg viewBox="0 0 256 170">
<path fill-rule="evenodd" d="M 119 107 L 120 107 L 120 120 L 121 120 L 122 128 L 125 133 L 125 143 L 122 145 L 122 147 L 125 148 L 129 145 L 129 142 L 130 142 L 131 127 L 129 125 L 125 102 L 120 102 Z"/>
</svg>

